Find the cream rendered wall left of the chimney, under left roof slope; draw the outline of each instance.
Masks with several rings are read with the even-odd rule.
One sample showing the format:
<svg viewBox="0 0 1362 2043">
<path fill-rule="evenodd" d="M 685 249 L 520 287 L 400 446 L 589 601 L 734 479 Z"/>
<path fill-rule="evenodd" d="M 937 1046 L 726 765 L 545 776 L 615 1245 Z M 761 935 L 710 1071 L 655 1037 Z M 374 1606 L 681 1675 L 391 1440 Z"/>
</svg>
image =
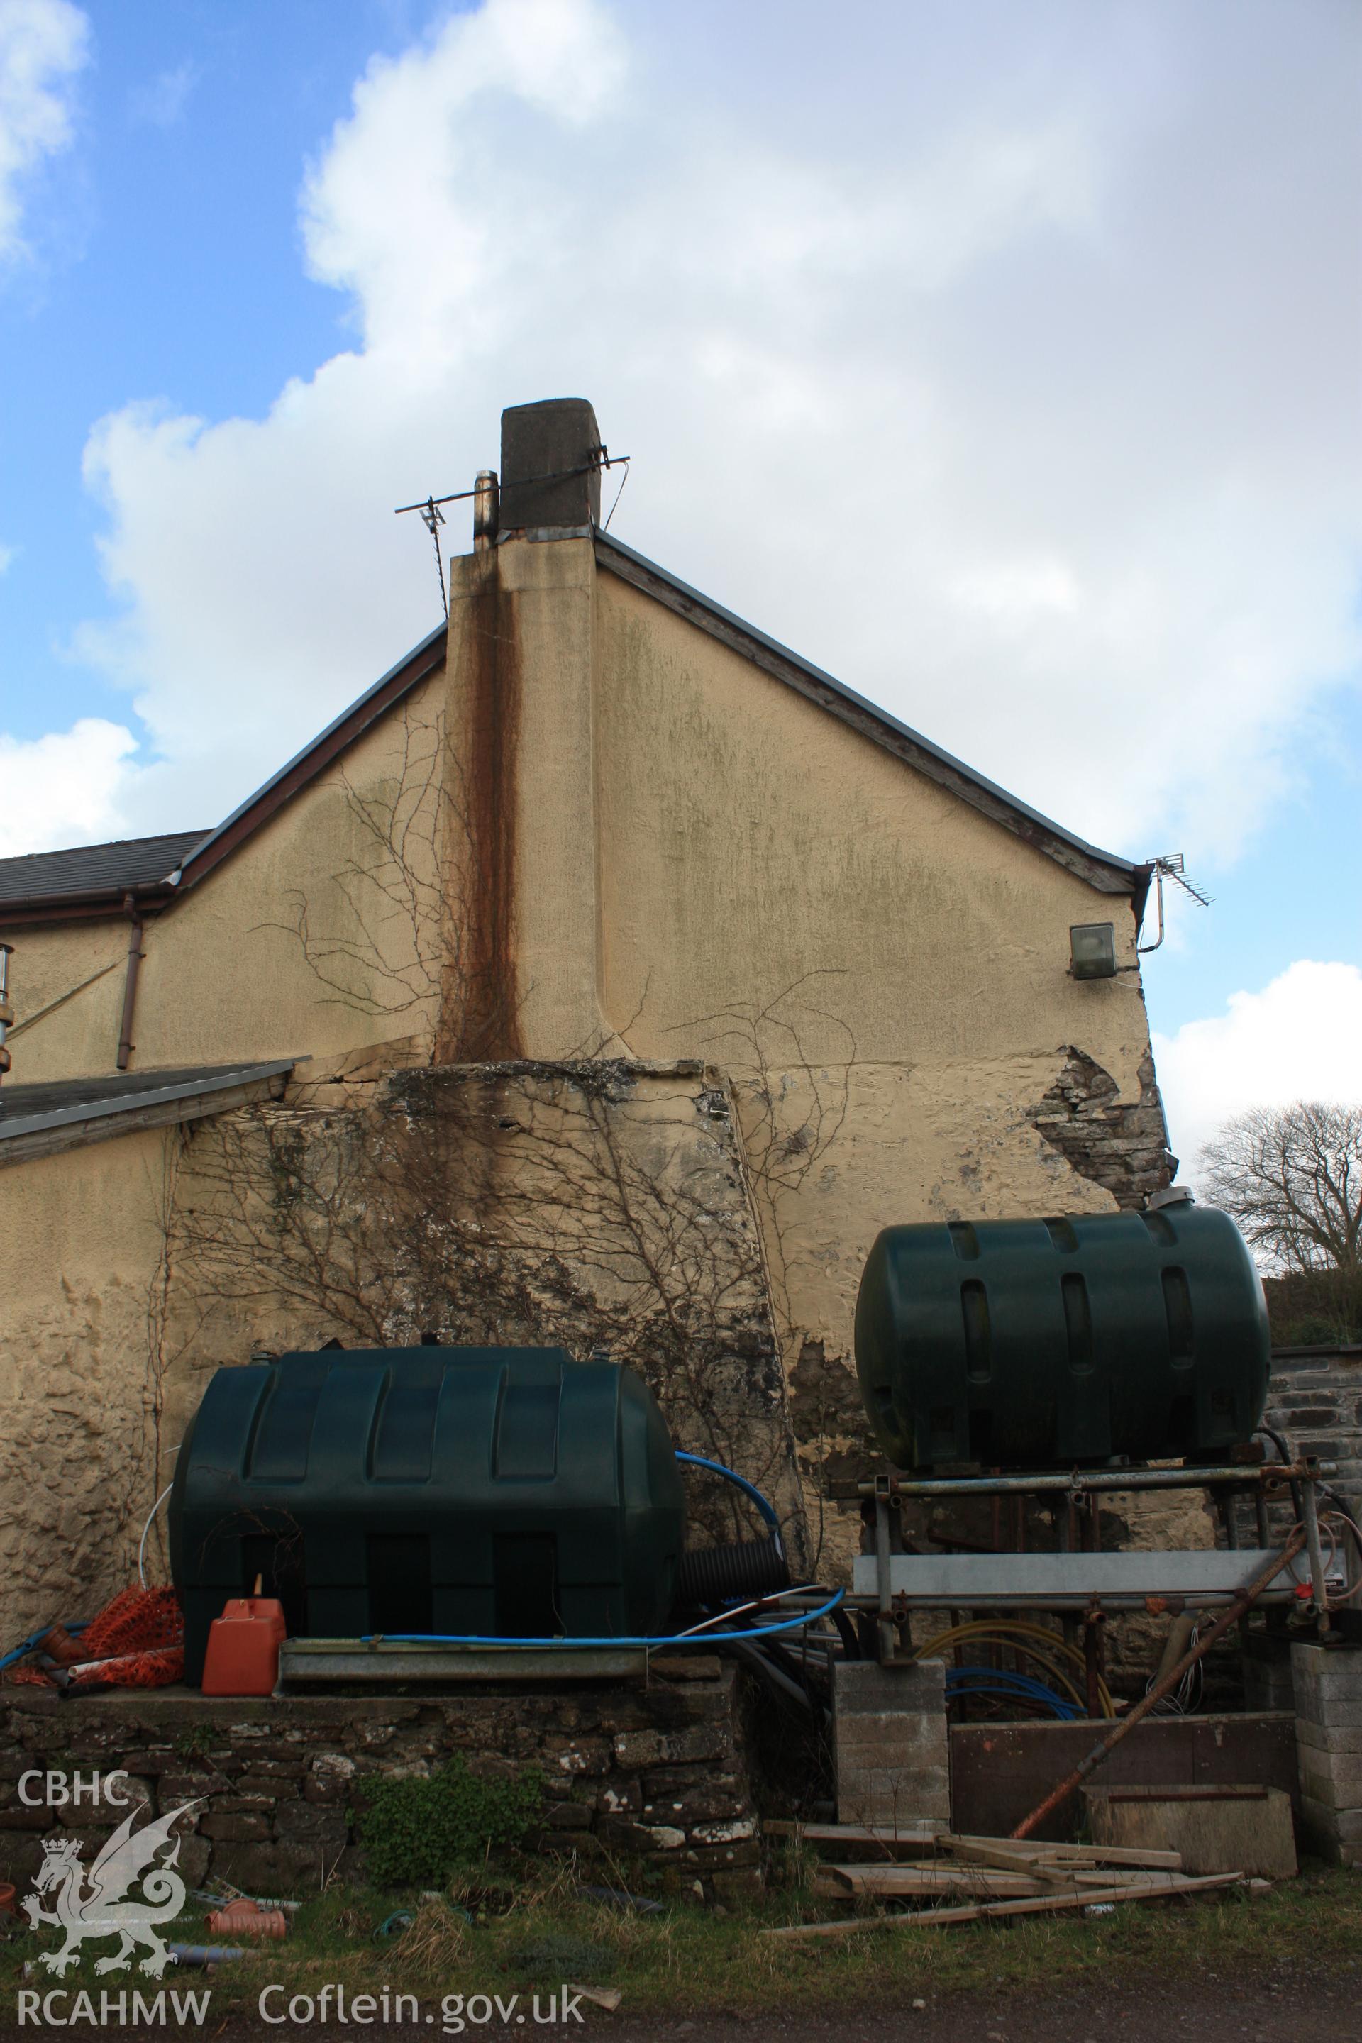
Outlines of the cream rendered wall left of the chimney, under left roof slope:
<svg viewBox="0 0 1362 2043">
<path fill-rule="evenodd" d="M 133 1071 L 317 1056 L 433 1034 L 443 709 L 443 678 L 433 676 L 202 887 L 147 919 Z M 127 921 L 20 928 L 8 942 L 16 1011 L 8 1083 L 112 1073 Z M 71 993 L 104 966 L 112 970 Z"/>
</svg>

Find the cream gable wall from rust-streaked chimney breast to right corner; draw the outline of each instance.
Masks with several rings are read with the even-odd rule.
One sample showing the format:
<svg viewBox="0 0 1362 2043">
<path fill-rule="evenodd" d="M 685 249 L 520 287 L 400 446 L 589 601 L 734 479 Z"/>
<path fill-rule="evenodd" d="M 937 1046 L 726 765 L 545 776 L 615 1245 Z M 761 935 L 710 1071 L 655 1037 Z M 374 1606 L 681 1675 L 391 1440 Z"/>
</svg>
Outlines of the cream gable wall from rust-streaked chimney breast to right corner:
<svg viewBox="0 0 1362 2043">
<path fill-rule="evenodd" d="M 590 539 L 453 562 L 447 672 L 482 1040 L 727 1071 L 805 1463 L 858 1465 L 849 1330 L 884 1224 L 1101 1211 L 1166 1181 L 1129 897 L 598 568 Z M 1117 979 L 1070 977 L 1078 921 L 1115 923 Z M 445 1038 L 488 1054 L 459 1011 Z"/>
</svg>

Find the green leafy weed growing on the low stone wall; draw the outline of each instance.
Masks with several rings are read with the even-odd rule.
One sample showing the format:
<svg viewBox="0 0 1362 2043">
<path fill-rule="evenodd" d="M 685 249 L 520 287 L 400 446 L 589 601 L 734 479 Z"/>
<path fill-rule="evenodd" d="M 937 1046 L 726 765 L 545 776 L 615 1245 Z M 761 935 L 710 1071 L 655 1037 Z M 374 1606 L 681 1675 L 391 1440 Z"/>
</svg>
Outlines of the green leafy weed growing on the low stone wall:
<svg viewBox="0 0 1362 2043">
<path fill-rule="evenodd" d="M 431 1775 L 374 1779 L 357 1818 L 370 1878 L 384 1888 L 443 1886 L 461 1865 L 519 1845 L 539 1820 L 543 1775 L 482 1779 L 453 1757 Z"/>
</svg>

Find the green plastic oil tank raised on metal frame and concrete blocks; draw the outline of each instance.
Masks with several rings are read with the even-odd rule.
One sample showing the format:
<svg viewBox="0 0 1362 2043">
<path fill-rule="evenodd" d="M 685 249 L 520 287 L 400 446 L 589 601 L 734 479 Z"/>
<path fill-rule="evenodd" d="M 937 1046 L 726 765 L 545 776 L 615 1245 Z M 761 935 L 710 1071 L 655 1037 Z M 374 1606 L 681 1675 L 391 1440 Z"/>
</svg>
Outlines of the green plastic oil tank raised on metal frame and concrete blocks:
<svg viewBox="0 0 1362 2043">
<path fill-rule="evenodd" d="M 1268 1314 L 1244 1236 L 1190 1201 L 886 1228 L 856 1373 L 901 1469 L 1205 1461 L 1248 1440 Z"/>
</svg>

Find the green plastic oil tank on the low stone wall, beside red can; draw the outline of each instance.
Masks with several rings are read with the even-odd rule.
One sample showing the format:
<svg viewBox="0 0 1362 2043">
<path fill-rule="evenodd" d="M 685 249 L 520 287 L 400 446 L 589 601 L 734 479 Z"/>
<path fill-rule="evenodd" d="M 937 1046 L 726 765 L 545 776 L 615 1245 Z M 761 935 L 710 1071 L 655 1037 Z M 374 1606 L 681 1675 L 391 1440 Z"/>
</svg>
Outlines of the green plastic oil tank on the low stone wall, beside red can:
<svg viewBox="0 0 1362 2043">
<path fill-rule="evenodd" d="M 218 1369 L 169 1498 L 186 1679 L 257 1575 L 294 1636 L 647 1634 L 684 1532 L 666 1420 L 621 1363 L 423 1346 Z"/>
</svg>

